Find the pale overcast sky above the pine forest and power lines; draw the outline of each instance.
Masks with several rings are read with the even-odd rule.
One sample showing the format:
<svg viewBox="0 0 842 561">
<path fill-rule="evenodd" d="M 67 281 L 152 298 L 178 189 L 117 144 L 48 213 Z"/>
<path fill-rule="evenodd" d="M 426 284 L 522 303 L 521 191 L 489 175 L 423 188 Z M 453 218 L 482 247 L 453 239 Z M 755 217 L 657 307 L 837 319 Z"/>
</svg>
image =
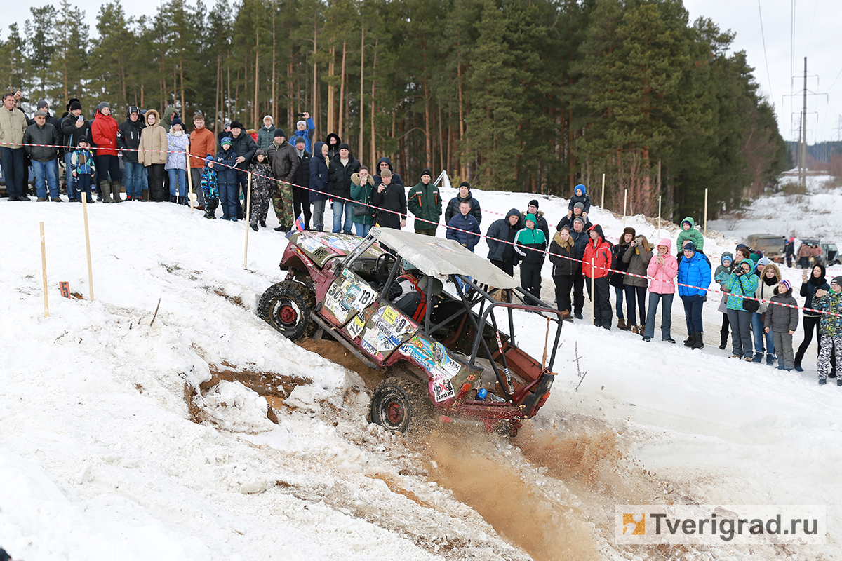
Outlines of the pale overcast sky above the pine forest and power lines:
<svg viewBox="0 0 842 561">
<path fill-rule="evenodd" d="M 99 0 L 76 0 L 85 10 L 91 33 L 96 33 Z M 43 6 L 40 0 L 21 0 L 5 8 L 0 34 L 5 38 L 8 24 L 16 21 L 23 29 L 30 17 L 30 6 Z M 210 5 L 212 2 L 205 2 Z M 58 3 L 55 3 L 56 7 Z M 794 26 L 792 11 L 795 5 Z M 154 3 L 152 3 L 152 7 Z M 130 16 L 153 13 L 146 3 L 124 3 Z M 828 95 L 807 96 L 807 141 L 842 140 L 842 2 L 839 0 L 685 0 L 690 21 L 706 17 L 721 29 L 737 33 L 733 50 L 745 50 L 760 91 L 775 106 L 778 126 L 786 140 L 797 140 L 798 115 L 803 98 L 804 57 L 807 56 L 807 90 Z M 761 15 L 763 33 L 761 34 Z M 794 29 L 794 48 L 792 29 Z M 765 37 L 765 50 L 764 50 Z M 767 65 L 768 61 L 768 65 Z M 793 82 L 794 80 L 794 82 Z M 797 98 L 789 97 L 791 93 Z M 794 112 L 794 114 L 793 114 Z"/>
</svg>

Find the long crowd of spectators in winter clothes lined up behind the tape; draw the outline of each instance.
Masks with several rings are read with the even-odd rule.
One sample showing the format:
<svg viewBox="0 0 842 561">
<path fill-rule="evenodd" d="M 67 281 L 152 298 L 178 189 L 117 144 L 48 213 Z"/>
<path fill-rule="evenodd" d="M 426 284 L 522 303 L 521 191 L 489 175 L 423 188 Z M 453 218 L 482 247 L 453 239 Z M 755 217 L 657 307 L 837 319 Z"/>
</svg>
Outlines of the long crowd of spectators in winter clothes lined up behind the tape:
<svg viewBox="0 0 842 561">
<path fill-rule="evenodd" d="M 118 124 L 109 103 L 101 102 L 89 121 L 76 98 L 68 101 L 61 119 L 51 115 L 44 100 L 30 119 L 18 107 L 20 97 L 20 93 L 4 94 L 0 109 L 0 157 L 9 201 L 30 200 L 25 191 L 29 160 L 38 201 L 61 202 L 61 161 L 69 201 L 81 201 L 84 196 L 93 202 L 96 193 L 97 200 L 104 203 L 120 203 L 124 200 L 120 196 L 121 156 L 125 200 L 188 204 L 189 173 L 195 203 L 205 217 L 215 219 L 221 209 L 222 220 L 236 222 L 243 219 L 250 187 L 248 226 L 255 231 L 266 227 L 270 204 L 279 222 L 275 230 L 295 228 L 300 217 L 299 229 L 323 231 L 324 211 L 330 201 L 334 233 L 366 236 L 375 224 L 401 229 L 411 212 L 415 232 L 435 236 L 444 209 L 448 239 L 474 251 L 482 237 L 482 209 L 470 183 L 461 182 L 456 197 L 445 204 L 432 183 L 431 170 L 424 168 L 407 193 L 408 186 L 388 157 L 377 161 L 372 173 L 335 133 L 324 141 L 314 141 L 315 125 L 307 113 L 299 114 L 303 119 L 296 122 L 288 141 L 271 115 L 264 117 L 263 125 L 253 134 L 242 123 L 232 121 L 214 135 L 200 113 L 193 115 L 193 130 L 188 133 L 176 108 L 166 108 L 162 118 L 155 109 L 131 106 L 125 122 Z M 799 293 L 806 298 L 805 308 L 818 310 L 803 311 L 804 337 L 794 352 L 792 336 L 799 315 L 793 287 L 762 251 L 741 244 L 734 253 L 722 254 L 714 272 L 704 252 L 704 236 L 692 217 L 681 221 L 674 256 L 669 238 L 653 246 L 631 227 L 622 231 L 616 244 L 611 243 L 602 227 L 589 220 L 590 206 L 587 187 L 578 184 L 568 213 L 552 237 L 537 199 L 531 200 L 525 211 L 510 209 L 488 226 L 488 259 L 510 275 L 519 267 L 522 288 L 541 299 L 541 270 L 548 257 L 562 318 L 584 319 L 587 291 L 594 325 L 607 330 L 613 324 L 613 287 L 617 327 L 636 333 L 642 341 L 653 340 L 660 308 L 661 339 L 676 342 L 672 308 L 678 293 L 685 312 L 684 344 L 695 349 L 704 347 L 702 310 L 711 283 L 717 283 L 722 292 L 721 349 L 727 347 L 730 331 L 733 357 L 755 363 L 765 357 L 765 363 L 777 363 L 781 370 L 802 371 L 802 359 L 815 331 L 819 383 L 835 376 L 842 318 L 821 312 L 842 313 L 842 277 L 828 283 L 823 265 L 813 266 L 821 253 L 818 246 L 803 244 L 796 255 L 793 240 L 787 241 L 787 263 L 797 257 L 805 268 Z"/>
</svg>

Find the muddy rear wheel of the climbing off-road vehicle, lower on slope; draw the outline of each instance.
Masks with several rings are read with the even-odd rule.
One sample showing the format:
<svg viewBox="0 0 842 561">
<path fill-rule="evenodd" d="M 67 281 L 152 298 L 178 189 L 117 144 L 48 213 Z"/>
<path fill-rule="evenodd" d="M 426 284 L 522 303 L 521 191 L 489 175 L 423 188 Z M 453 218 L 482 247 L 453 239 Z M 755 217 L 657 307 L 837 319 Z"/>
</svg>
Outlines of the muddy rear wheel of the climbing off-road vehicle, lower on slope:
<svg viewBox="0 0 842 561">
<path fill-rule="evenodd" d="M 392 432 L 419 429 L 433 413 L 424 384 L 400 377 L 381 382 L 374 390 L 369 407 L 371 422 Z"/>
</svg>

